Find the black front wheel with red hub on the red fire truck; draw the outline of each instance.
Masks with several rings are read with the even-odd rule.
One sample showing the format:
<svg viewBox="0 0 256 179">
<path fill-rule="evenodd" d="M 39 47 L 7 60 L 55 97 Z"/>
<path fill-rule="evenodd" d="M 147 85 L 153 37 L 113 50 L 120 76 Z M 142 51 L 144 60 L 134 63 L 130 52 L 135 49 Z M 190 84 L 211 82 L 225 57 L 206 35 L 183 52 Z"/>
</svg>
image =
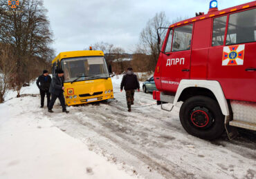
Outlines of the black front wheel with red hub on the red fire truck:
<svg viewBox="0 0 256 179">
<path fill-rule="evenodd" d="M 219 104 L 206 96 L 194 96 L 183 103 L 181 125 L 193 136 L 206 140 L 219 138 L 224 131 L 224 118 Z"/>
</svg>

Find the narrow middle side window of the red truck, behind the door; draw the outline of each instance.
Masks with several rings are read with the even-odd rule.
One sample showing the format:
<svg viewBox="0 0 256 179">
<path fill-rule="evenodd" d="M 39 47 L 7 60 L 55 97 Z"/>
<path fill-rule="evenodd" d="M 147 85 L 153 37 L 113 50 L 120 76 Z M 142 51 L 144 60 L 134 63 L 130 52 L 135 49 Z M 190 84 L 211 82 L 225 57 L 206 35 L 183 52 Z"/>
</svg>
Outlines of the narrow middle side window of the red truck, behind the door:
<svg viewBox="0 0 256 179">
<path fill-rule="evenodd" d="M 227 16 L 213 19 L 212 47 L 224 44 Z"/>
</svg>

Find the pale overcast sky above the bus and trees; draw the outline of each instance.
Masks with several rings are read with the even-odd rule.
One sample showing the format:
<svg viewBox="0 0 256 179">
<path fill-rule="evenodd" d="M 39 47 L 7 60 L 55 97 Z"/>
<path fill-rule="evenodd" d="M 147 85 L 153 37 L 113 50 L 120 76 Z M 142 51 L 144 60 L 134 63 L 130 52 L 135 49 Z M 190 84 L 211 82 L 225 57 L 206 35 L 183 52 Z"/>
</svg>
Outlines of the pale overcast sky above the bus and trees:
<svg viewBox="0 0 256 179">
<path fill-rule="evenodd" d="M 219 10 L 252 0 L 219 0 Z M 141 30 L 157 12 L 167 19 L 208 12 L 210 0 L 44 0 L 56 53 L 104 41 L 133 52 Z"/>
</svg>

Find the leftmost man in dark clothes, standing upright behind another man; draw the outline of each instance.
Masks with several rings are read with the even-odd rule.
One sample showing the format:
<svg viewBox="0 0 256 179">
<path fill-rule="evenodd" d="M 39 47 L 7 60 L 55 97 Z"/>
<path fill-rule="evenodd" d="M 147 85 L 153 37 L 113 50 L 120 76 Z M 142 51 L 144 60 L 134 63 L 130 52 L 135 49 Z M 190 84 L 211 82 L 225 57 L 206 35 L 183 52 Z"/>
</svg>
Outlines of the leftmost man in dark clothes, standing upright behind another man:
<svg viewBox="0 0 256 179">
<path fill-rule="evenodd" d="M 41 107 L 44 107 L 44 97 L 47 96 L 47 107 L 50 104 L 51 94 L 49 92 L 51 85 L 51 76 L 48 75 L 48 71 L 44 70 L 43 74 L 37 78 L 37 87 L 40 89 Z"/>
</svg>

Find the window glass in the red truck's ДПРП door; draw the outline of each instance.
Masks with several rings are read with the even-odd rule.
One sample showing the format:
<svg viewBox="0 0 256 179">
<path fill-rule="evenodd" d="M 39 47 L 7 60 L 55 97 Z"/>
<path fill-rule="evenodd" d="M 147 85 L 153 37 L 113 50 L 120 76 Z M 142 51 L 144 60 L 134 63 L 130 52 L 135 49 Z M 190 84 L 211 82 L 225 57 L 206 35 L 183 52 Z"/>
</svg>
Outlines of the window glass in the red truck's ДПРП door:
<svg viewBox="0 0 256 179">
<path fill-rule="evenodd" d="M 172 52 L 190 50 L 193 24 L 174 29 Z"/>
</svg>

